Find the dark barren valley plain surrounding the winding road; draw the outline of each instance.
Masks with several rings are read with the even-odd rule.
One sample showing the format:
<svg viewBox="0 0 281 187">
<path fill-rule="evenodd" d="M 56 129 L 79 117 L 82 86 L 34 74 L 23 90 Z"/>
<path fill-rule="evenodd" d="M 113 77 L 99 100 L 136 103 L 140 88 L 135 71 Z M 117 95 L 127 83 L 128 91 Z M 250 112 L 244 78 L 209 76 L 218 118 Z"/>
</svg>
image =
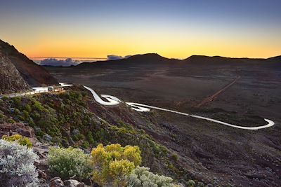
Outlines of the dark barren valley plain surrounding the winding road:
<svg viewBox="0 0 281 187">
<path fill-rule="evenodd" d="M 124 102 L 158 106 L 246 127 L 266 125 L 263 118 L 273 120 L 272 127 L 249 131 L 166 111 L 152 109 L 129 114 L 124 113 L 123 106 L 105 106 L 107 112 L 114 113 L 110 116 L 118 116 L 145 130 L 176 153 L 181 167 L 199 181 L 223 186 L 228 183 L 278 186 L 280 61 L 240 62 L 238 59 L 233 62 L 233 59 L 211 58 L 215 62 L 209 62 L 197 57 L 195 62 L 158 59 L 152 60 L 153 63 L 149 59 L 143 55 L 143 59 L 128 62 L 46 68 L 59 81 L 87 85 L 98 95 L 113 95 Z M 237 77 L 240 78 L 235 83 L 223 89 Z M 219 90 L 222 91 L 211 101 L 197 106 Z"/>
</svg>

